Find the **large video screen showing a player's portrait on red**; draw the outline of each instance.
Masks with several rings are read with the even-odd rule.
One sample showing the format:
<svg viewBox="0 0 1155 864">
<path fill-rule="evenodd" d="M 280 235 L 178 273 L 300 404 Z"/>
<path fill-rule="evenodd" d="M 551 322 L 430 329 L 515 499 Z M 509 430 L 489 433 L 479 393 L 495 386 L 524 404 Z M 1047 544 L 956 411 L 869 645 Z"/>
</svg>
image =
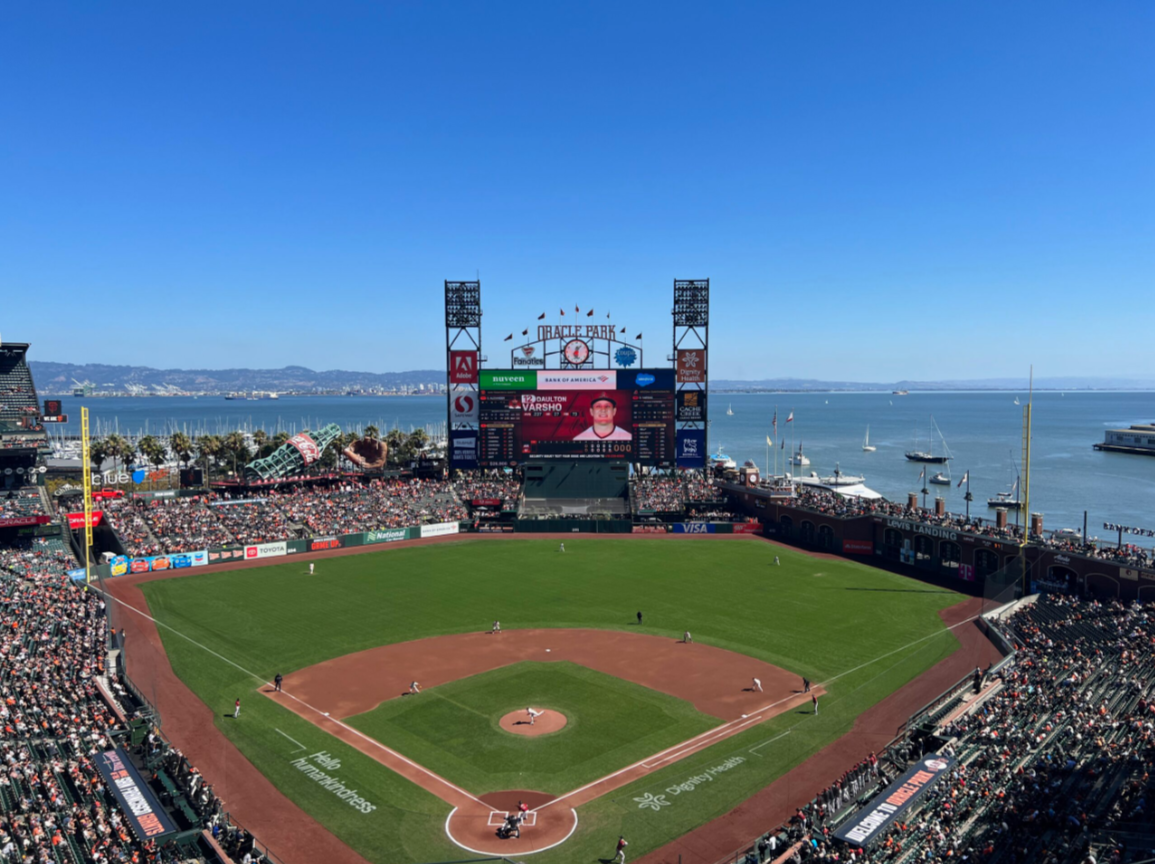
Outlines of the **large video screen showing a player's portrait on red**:
<svg viewBox="0 0 1155 864">
<path fill-rule="evenodd" d="M 605 459 L 673 465 L 673 370 L 482 370 L 477 462 Z"/>
</svg>

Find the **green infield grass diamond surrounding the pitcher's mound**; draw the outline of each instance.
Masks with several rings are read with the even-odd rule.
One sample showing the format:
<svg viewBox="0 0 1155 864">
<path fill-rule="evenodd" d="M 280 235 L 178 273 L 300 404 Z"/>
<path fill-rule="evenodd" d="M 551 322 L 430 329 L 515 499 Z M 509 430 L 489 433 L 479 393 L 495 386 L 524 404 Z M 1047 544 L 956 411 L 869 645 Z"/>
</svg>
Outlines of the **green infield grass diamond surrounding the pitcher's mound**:
<svg viewBox="0 0 1155 864">
<path fill-rule="evenodd" d="M 565 729 L 530 738 L 498 721 L 552 708 Z M 561 795 L 720 725 L 688 702 L 574 663 L 515 663 L 390 699 L 345 722 L 474 795 Z"/>
</svg>

